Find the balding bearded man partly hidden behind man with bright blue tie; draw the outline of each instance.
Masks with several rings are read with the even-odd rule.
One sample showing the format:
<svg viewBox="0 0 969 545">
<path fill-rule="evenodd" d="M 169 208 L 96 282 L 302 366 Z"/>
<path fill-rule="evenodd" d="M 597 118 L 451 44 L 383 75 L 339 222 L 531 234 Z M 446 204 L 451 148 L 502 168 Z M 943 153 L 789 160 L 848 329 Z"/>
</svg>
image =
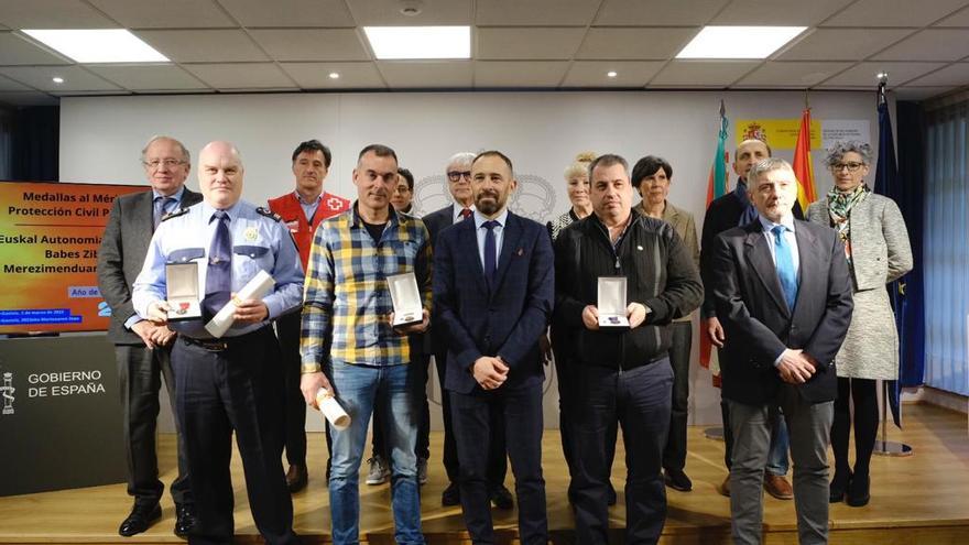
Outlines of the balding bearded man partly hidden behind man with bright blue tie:
<svg viewBox="0 0 969 545">
<path fill-rule="evenodd" d="M 750 224 L 756 218 L 756 209 L 750 201 L 747 187 L 747 174 L 754 163 L 771 156 L 771 146 L 760 140 L 744 140 L 733 151 L 733 172 L 737 174 L 737 187 L 716 198 L 707 208 L 704 216 L 704 231 L 700 238 L 700 276 L 704 284 L 712 285 L 717 271 L 710 266 L 714 239 L 717 235 L 738 226 Z M 791 207 L 796 219 L 804 219 L 801 205 L 794 200 Z M 717 318 L 717 309 L 714 305 L 714 296 L 710 290 L 706 291 L 706 297 L 700 312 L 700 327 L 706 331 L 710 342 L 718 348 L 723 347 L 723 327 Z M 722 350 L 719 353 L 721 363 L 729 357 Z M 721 399 L 720 411 L 723 417 L 723 464 L 730 470 L 730 453 L 733 448 L 733 435 L 730 433 L 730 415 L 727 402 Z M 794 498 L 791 483 L 787 482 L 787 426 L 780 412 L 772 415 L 774 427 L 771 429 L 771 456 L 767 457 L 766 478 L 764 490 L 779 500 Z M 718 488 L 723 495 L 730 495 L 730 476 Z"/>
</svg>

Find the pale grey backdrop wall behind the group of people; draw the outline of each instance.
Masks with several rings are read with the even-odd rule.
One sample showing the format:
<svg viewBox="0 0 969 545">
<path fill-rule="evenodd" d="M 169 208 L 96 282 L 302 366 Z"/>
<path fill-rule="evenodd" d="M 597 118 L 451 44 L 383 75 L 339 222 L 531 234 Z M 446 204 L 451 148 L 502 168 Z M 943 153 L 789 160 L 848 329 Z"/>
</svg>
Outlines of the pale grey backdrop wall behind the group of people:
<svg viewBox="0 0 969 545">
<path fill-rule="evenodd" d="M 799 118 L 804 98 L 799 90 L 74 97 L 61 101 L 61 178 L 127 184 L 144 178 L 139 154 L 154 134 L 182 140 L 193 159 L 206 142 L 225 139 L 242 153 L 243 197 L 264 203 L 293 190 L 292 151 L 300 141 L 315 138 L 334 151 L 326 189 L 355 198 L 351 172 L 357 154 L 378 142 L 394 148 L 401 166 L 414 173 L 416 210 L 426 214 L 448 201 L 448 156 L 498 149 L 514 162 L 520 182 L 512 209 L 545 221 L 569 206 L 562 173 L 576 153 L 619 153 L 630 163 L 656 154 L 673 165 L 669 200 L 693 212 L 699 229 L 720 100 L 731 120 L 732 143 L 739 130 L 734 120 L 743 121 L 743 130 L 752 130 L 751 121 L 764 120 L 759 124 L 770 131 L 784 126 L 779 120 Z M 809 99 L 813 119 L 823 130 L 825 121 L 849 127 L 853 134 L 877 127 L 873 91 L 813 92 Z M 793 150 L 775 148 L 775 155 L 792 159 Z M 732 149 L 730 155 L 732 160 Z M 830 174 L 823 167 L 821 150 L 815 150 L 813 159 L 823 195 L 831 185 Z M 731 173 L 731 186 L 734 178 Z M 198 187 L 194 168 L 188 186 Z M 696 362 L 696 347 L 693 359 Z M 545 422 L 556 427 L 552 374 L 549 369 Z M 439 399 L 436 384 L 431 395 Z M 719 393 L 710 386 L 709 372 L 697 364 L 690 368 L 689 403 L 692 424 L 719 424 Z M 439 407 L 434 408 L 434 426 L 439 427 Z M 318 415 L 307 419 L 309 429 L 320 429 Z"/>
</svg>

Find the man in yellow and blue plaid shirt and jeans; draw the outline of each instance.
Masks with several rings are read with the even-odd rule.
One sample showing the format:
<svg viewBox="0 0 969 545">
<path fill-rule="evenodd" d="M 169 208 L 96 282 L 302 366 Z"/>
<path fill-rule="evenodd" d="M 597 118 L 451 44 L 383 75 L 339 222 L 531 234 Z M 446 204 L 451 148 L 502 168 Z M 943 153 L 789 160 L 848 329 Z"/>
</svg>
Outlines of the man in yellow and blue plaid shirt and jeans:
<svg viewBox="0 0 969 545">
<path fill-rule="evenodd" d="M 431 242 L 427 228 L 398 212 L 390 196 L 398 157 L 380 144 L 364 148 L 353 170 L 357 201 L 326 219 L 309 251 L 303 297 L 301 390 L 316 406 L 320 388 L 330 390 L 351 417 L 333 430 L 329 500 L 334 544 L 359 538 L 360 460 L 367 426 L 380 406 L 391 462 L 391 504 L 398 543 L 424 543 L 417 484 L 417 388 L 407 334 L 427 328 L 431 306 Z M 424 303 L 423 320 L 392 327 L 386 277 L 413 272 Z M 377 404 L 377 396 L 382 396 Z"/>
</svg>

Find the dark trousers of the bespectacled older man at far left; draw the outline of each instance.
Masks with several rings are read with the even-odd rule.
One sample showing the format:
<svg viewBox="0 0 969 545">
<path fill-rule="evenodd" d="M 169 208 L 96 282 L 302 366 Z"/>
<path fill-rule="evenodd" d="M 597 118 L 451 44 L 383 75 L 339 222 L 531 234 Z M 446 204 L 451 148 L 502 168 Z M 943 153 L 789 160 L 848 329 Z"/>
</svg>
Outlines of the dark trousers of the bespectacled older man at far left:
<svg viewBox="0 0 969 545">
<path fill-rule="evenodd" d="M 135 503 L 152 505 L 162 499 L 165 486 L 159 480 L 159 458 L 155 450 L 155 429 L 159 421 L 159 391 L 162 378 L 168 391 L 172 413 L 175 412 L 175 377 L 172 372 L 171 347 L 150 350 L 144 345 L 117 345 L 118 379 L 121 391 L 121 411 L 124 450 L 128 461 L 128 493 Z M 176 432 L 179 430 L 177 421 Z M 178 477 L 172 482 L 175 503 L 192 503 L 188 483 L 188 462 L 185 442 L 178 442 Z"/>
</svg>

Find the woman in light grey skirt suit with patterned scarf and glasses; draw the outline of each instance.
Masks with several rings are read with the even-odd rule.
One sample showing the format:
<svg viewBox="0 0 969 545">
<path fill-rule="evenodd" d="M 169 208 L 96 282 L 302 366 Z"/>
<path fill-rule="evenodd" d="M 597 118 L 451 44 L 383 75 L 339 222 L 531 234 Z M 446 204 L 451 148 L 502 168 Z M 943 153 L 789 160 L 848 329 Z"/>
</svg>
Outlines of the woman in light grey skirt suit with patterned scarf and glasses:
<svg viewBox="0 0 969 545">
<path fill-rule="evenodd" d="M 834 227 L 845 242 L 851 271 L 854 313 L 838 352 L 838 399 L 831 425 L 835 478 L 830 500 L 851 506 L 870 499 L 869 465 L 878 434 L 879 380 L 899 378 L 899 336 L 885 284 L 912 270 L 912 248 L 905 220 L 895 201 L 871 193 L 864 176 L 871 165 L 871 146 L 836 142 L 827 155 L 835 178 L 828 195 L 807 209 L 816 224 Z M 854 468 L 848 464 L 851 428 L 849 400 L 854 402 Z"/>
</svg>

